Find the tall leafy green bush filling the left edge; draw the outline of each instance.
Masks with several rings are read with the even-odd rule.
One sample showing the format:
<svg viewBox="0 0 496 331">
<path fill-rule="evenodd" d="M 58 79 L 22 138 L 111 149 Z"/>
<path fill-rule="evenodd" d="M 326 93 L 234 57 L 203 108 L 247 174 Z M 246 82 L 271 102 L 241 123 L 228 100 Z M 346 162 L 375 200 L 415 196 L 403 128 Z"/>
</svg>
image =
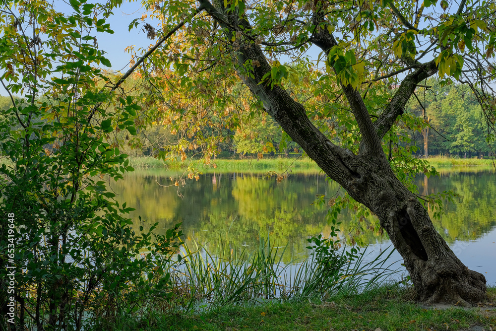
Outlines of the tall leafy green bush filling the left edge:
<svg viewBox="0 0 496 331">
<path fill-rule="evenodd" d="M 98 65 L 110 62 L 94 31 L 113 33 L 105 21 L 113 6 L 71 0 L 72 12 L 62 13 L 46 1 L 7 2 L 0 11 L 0 78 L 10 100 L 0 114 L 2 328 L 89 330 L 143 316 L 171 297 L 164 265 L 181 231 L 136 233 L 132 208 L 107 189 L 133 170 L 109 137 L 136 134 L 140 110 L 132 97 L 99 88 L 110 82 Z"/>
</svg>

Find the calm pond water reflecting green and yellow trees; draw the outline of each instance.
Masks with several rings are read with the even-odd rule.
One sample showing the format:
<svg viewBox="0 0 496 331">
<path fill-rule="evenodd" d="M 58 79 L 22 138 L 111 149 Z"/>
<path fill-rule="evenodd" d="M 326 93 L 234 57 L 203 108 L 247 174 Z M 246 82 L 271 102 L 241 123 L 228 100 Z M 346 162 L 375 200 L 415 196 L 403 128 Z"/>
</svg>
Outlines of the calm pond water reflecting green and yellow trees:
<svg viewBox="0 0 496 331">
<path fill-rule="evenodd" d="M 173 176 L 163 170 L 136 170 L 111 184 L 118 200 L 136 208 L 131 214 L 136 228 L 158 222 L 156 231 L 165 233 L 182 222 L 186 242 L 204 244 L 210 252 L 215 252 L 220 238 L 239 250 L 249 250 L 269 235 L 271 243 L 287 245 L 286 250 L 292 252 L 287 262 L 291 255 L 309 253 L 307 238 L 330 233 L 324 219 L 327 206 L 312 204 L 316 196 L 330 198 L 343 193 L 336 183 L 319 174 L 291 174 L 278 182 L 261 174 L 211 173 L 201 175 L 198 181 L 186 180 L 179 187 L 174 186 L 175 179 L 171 181 Z M 459 195 L 447 203 L 446 214 L 440 219 L 434 219 L 430 211 L 434 226 L 465 265 L 483 273 L 488 284 L 495 284 L 494 171 L 451 168 L 439 177 L 422 175 L 416 180 L 421 194 L 452 190 Z M 369 250 L 378 252 L 390 245 L 386 237 L 370 230 L 357 234 L 350 211 L 342 211 L 339 221 L 341 236 L 352 235 L 370 245 Z M 371 217 L 369 221 L 377 219 Z M 399 254 L 395 252 L 392 259 L 399 260 Z"/>
</svg>

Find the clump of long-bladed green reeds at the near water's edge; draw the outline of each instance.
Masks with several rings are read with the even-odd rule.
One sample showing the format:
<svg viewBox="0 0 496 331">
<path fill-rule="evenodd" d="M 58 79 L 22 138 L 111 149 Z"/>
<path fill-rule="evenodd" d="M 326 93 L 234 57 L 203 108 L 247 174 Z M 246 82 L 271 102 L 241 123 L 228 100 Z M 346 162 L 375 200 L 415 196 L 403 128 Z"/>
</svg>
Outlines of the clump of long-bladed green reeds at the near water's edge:
<svg viewBox="0 0 496 331">
<path fill-rule="evenodd" d="M 310 246 L 308 257 L 300 261 L 291 257 L 289 264 L 283 263 L 283 256 L 292 254 L 287 246 L 279 249 L 270 238 L 261 239 L 254 252 L 239 252 L 228 239 L 215 252 L 195 242 L 190 246 L 183 246 L 183 263 L 173 272 L 177 302 L 184 311 L 360 292 L 385 282 L 397 271 L 389 264 L 393 250 L 386 249 L 367 262 L 367 248 L 338 249 L 325 245 L 323 239 Z"/>
</svg>

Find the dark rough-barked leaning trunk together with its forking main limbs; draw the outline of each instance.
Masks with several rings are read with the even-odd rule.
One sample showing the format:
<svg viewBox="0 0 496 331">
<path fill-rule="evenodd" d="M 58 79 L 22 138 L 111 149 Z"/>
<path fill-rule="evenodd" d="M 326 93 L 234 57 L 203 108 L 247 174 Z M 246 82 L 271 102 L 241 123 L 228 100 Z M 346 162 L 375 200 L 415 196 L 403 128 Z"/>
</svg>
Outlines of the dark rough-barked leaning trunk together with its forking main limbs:
<svg viewBox="0 0 496 331">
<path fill-rule="evenodd" d="M 398 116 L 403 114 L 406 102 L 417 84 L 437 71 L 434 61 L 416 65 L 417 69 L 406 75 L 391 102 L 381 116 L 372 123 L 360 93 L 350 86 L 343 86 L 351 111 L 361 133 L 360 153 L 354 154 L 330 141 L 309 120 L 306 110 L 286 90 L 261 83 L 270 72 L 260 47 L 249 36 L 248 19 L 236 13 L 227 13 L 222 1 L 214 7 L 208 0 L 199 0 L 205 11 L 228 32 L 226 41 L 238 32 L 239 43 L 233 58 L 236 69 L 251 92 L 263 103 L 267 114 L 305 150 L 331 179 L 339 183 L 356 201 L 363 203 L 377 215 L 404 259 L 406 268 L 425 303 L 459 303 L 469 305 L 482 301 L 486 293 L 486 279 L 469 270 L 449 249 L 435 231 L 427 210 L 417 197 L 408 191 L 394 175 L 381 146 L 381 139 Z M 316 25 L 320 22 L 313 22 Z M 312 42 L 327 54 L 336 45 L 332 34 L 320 28 Z M 240 38 L 240 35 L 243 37 Z M 244 71 L 244 64 L 257 62 L 251 72 Z"/>
</svg>

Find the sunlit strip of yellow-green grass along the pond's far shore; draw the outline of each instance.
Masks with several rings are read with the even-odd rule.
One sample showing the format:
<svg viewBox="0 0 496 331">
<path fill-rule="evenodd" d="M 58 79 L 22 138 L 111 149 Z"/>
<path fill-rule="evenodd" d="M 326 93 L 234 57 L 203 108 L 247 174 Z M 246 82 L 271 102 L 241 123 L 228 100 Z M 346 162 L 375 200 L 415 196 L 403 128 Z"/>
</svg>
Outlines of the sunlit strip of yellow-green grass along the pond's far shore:
<svg viewBox="0 0 496 331">
<path fill-rule="evenodd" d="M 129 156 L 129 164 L 134 168 L 164 168 L 167 170 L 181 171 L 189 166 L 196 167 L 203 173 L 212 172 L 253 172 L 265 173 L 276 172 L 299 172 L 299 173 L 319 173 L 321 170 L 308 157 L 293 156 L 290 158 L 267 157 L 262 159 L 239 159 L 238 156 L 231 158 L 217 158 L 212 160 L 212 164 L 206 165 L 199 160 L 192 160 L 190 163 L 180 161 L 161 161 L 150 156 Z M 477 170 L 494 169 L 496 160 L 478 158 L 456 158 L 447 156 L 432 156 L 427 159 L 439 172 L 443 168 L 452 167 L 477 167 Z M 460 169 L 465 170 L 465 169 Z M 472 169 L 475 170 L 475 169 Z"/>
</svg>

